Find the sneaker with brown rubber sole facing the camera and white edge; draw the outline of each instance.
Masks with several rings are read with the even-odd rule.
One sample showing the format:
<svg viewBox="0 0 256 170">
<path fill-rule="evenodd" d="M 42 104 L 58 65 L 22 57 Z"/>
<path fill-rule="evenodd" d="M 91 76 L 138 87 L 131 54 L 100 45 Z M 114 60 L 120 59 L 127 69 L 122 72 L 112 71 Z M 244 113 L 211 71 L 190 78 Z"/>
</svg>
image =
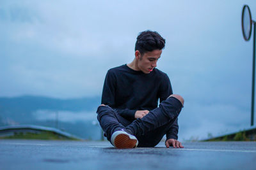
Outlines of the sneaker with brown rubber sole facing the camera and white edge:
<svg viewBox="0 0 256 170">
<path fill-rule="evenodd" d="M 111 136 L 111 143 L 119 149 L 136 148 L 138 139 L 125 131 L 115 131 Z"/>
</svg>

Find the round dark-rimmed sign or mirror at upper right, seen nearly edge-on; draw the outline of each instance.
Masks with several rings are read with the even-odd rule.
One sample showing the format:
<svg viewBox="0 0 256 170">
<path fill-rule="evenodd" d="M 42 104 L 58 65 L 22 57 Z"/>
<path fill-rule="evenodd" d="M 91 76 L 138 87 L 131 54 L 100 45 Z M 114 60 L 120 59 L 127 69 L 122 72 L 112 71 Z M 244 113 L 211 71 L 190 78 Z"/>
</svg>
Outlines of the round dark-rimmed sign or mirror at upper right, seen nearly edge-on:
<svg viewBox="0 0 256 170">
<path fill-rule="evenodd" d="M 242 11 L 242 31 L 245 41 L 249 41 L 252 33 L 252 16 L 248 5 L 244 5 Z"/>
</svg>

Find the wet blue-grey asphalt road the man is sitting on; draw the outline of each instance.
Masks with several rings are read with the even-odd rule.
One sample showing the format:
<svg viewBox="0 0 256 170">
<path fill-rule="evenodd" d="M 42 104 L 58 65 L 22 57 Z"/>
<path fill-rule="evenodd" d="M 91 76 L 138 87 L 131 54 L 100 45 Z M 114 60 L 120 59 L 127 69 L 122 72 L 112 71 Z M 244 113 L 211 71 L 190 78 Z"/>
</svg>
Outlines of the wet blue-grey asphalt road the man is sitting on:
<svg viewBox="0 0 256 170">
<path fill-rule="evenodd" d="M 108 142 L 0 140 L 0 169 L 256 169 L 256 142 L 118 150 Z"/>
</svg>

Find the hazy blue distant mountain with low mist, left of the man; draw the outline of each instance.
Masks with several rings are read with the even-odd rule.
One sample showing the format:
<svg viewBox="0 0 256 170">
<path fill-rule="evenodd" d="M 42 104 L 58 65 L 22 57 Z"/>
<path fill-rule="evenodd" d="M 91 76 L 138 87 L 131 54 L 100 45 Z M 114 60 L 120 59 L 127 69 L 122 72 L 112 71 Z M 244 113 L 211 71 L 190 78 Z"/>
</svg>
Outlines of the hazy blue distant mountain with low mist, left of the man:
<svg viewBox="0 0 256 170">
<path fill-rule="evenodd" d="M 51 118 L 51 115 L 49 117 L 49 114 L 59 112 L 58 128 L 81 138 L 100 139 L 100 127 L 97 123 L 95 125 L 96 110 L 99 104 L 100 97 L 80 99 L 56 99 L 42 96 L 0 97 L 0 126 L 35 124 L 56 127 L 56 118 Z M 38 119 L 35 114 L 36 111 L 41 111 L 43 114 L 41 117 L 48 117 L 48 119 Z M 61 111 L 64 111 L 62 115 Z M 67 115 L 67 113 L 70 114 Z M 85 114 L 85 117 L 88 115 L 89 118 L 72 119 L 72 115 L 81 117 L 81 114 L 82 116 Z M 64 121 L 63 117 L 69 118 L 70 121 Z"/>
</svg>

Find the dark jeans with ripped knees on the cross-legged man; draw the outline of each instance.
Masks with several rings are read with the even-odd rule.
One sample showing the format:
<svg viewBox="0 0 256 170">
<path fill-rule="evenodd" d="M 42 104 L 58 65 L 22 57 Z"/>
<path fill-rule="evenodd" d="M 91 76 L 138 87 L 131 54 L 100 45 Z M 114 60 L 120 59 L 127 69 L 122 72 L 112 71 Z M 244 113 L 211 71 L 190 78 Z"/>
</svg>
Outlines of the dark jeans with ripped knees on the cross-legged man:
<svg viewBox="0 0 256 170">
<path fill-rule="evenodd" d="M 133 122 L 118 115 L 109 106 L 99 106 L 98 120 L 106 137 L 111 141 L 113 132 L 128 129 L 139 141 L 138 147 L 156 146 L 164 134 L 172 127 L 179 116 L 182 104 L 175 97 L 169 97 L 151 110 L 145 117 L 137 118 Z"/>
</svg>

